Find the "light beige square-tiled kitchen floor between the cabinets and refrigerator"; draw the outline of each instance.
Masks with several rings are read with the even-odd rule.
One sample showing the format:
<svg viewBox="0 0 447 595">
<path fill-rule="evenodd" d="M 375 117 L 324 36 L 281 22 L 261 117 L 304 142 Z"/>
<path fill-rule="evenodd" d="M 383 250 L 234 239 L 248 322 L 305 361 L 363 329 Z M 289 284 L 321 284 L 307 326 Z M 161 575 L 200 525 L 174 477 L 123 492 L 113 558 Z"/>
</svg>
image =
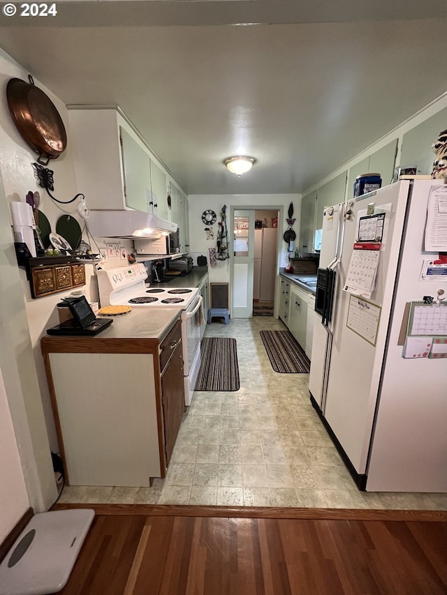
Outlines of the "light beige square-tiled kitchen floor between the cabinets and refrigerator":
<svg viewBox="0 0 447 595">
<path fill-rule="evenodd" d="M 219 319 L 237 340 L 240 390 L 196 392 L 165 479 L 152 488 L 67 486 L 59 502 L 446 510 L 447 494 L 360 492 L 309 401 L 307 374 L 274 372 L 260 330 L 273 317 Z"/>
</svg>

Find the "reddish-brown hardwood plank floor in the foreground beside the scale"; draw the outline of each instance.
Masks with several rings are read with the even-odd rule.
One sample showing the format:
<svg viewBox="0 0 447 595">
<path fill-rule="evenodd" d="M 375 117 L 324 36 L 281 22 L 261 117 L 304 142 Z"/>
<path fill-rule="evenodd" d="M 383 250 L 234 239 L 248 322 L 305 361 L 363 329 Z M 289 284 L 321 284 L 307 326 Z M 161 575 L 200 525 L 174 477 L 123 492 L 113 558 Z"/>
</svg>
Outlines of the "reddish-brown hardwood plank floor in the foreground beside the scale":
<svg viewBox="0 0 447 595">
<path fill-rule="evenodd" d="M 446 513 L 92 507 L 64 595 L 447 592 Z"/>
</svg>

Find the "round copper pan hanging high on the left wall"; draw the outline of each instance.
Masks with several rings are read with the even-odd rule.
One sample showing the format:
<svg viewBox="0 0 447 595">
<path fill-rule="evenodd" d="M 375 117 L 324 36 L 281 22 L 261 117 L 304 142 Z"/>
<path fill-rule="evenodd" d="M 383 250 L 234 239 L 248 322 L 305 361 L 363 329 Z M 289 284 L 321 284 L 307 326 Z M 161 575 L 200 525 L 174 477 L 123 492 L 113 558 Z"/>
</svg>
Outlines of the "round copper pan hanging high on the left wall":
<svg viewBox="0 0 447 595">
<path fill-rule="evenodd" d="M 47 165 L 65 150 L 64 122 L 52 100 L 32 82 L 13 78 L 6 86 L 8 107 L 15 126 L 31 149 L 38 153 L 38 163 Z"/>
</svg>

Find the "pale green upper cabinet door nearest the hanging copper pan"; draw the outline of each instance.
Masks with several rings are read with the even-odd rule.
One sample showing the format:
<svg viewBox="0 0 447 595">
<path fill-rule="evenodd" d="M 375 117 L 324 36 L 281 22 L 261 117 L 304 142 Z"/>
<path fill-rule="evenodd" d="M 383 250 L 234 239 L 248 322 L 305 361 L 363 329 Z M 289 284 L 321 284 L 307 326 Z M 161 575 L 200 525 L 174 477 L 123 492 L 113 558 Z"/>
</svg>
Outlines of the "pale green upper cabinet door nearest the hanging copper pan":
<svg viewBox="0 0 447 595">
<path fill-rule="evenodd" d="M 152 212 L 149 155 L 124 128 L 119 128 L 124 172 L 126 205 L 137 211 Z"/>
</svg>

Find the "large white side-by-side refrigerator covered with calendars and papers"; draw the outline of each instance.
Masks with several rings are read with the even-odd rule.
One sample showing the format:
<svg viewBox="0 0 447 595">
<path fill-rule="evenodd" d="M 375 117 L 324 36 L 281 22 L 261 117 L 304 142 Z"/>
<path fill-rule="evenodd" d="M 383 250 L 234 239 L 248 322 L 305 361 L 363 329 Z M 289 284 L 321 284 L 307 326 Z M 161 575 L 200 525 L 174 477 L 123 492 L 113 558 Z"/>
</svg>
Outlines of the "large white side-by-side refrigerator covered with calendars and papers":
<svg viewBox="0 0 447 595">
<path fill-rule="evenodd" d="M 446 203 L 441 181 L 400 181 L 324 210 L 309 391 L 362 490 L 447 492 L 447 263 L 425 250 L 427 229 L 447 251 Z"/>
</svg>

